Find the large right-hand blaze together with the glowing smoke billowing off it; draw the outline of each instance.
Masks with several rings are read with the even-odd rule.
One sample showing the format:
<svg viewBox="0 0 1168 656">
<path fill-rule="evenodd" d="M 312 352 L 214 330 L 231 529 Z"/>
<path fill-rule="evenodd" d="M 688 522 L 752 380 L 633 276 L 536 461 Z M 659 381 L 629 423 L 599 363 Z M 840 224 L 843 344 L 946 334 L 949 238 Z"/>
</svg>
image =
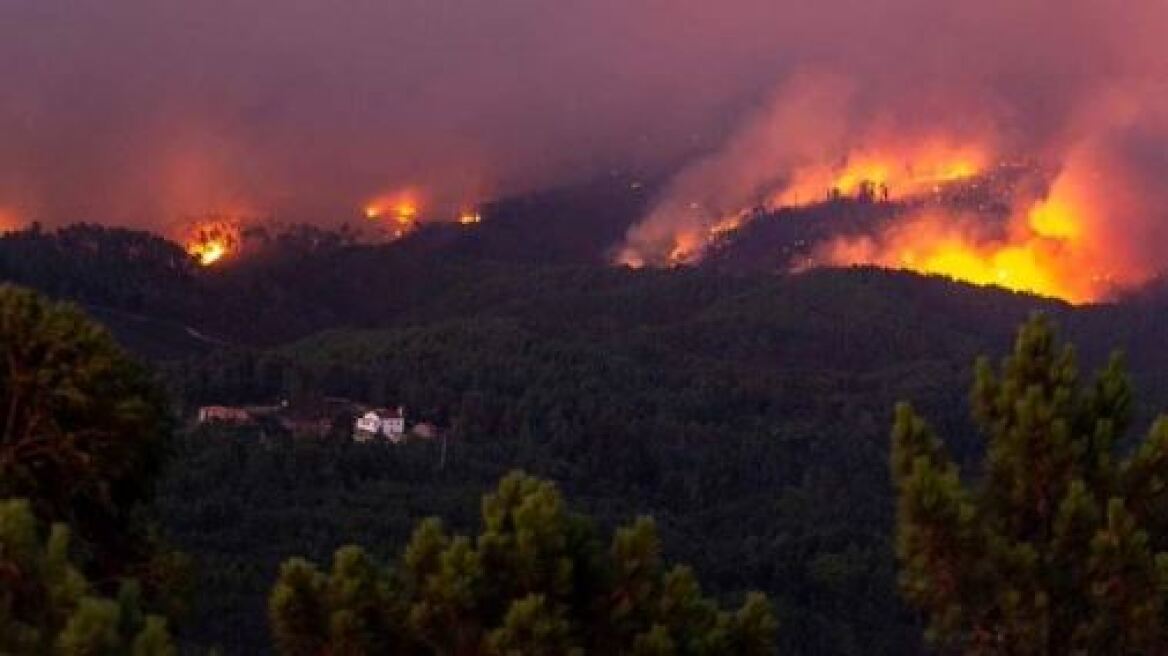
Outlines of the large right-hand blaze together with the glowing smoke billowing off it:
<svg viewBox="0 0 1168 656">
<path fill-rule="evenodd" d="M 617 260 L 694 264 L 746 238 L 743 228 L 760 217 L 816 208 L 830 222 L 861 203 L 890 209 L 867 225 L 818 230 L 788 268 L 876 265 L 1072 302 L 1162 273 L 1154 244 L 1168 243 L 1168 217 L 1155 172 L 1168 170 L 1168 155 L 1154 146 L 1163 139 L 1149 111 L 1107 104 L 1057 142 L 1030 148 L 1041 165 L 1017 165 L 1004 162 L 1027 151 L 1004 146 L 992 121 L 857 123 L 837 109 L 848 103 L 821 79 L 780 93 L 673 181 Z"/>
</svg>

